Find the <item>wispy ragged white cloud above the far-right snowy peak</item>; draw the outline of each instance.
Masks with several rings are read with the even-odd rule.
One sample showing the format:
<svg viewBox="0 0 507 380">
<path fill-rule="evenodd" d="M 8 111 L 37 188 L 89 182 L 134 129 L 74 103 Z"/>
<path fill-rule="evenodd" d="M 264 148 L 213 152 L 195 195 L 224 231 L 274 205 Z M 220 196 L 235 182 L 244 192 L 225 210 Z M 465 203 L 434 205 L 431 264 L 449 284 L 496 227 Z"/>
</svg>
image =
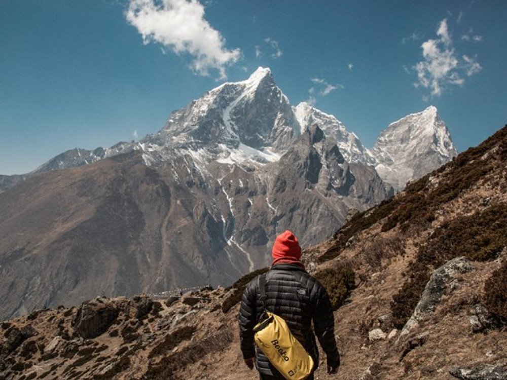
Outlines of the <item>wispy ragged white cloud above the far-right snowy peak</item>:
<svg viewBox="0 0 507 380">
<path fill-rule="evenodd" d="M 458 58 L 447 19 L 440 22 L 437 37 L 421 45 L 424 59 L 413 67 L 418 79 L 414 86 L 430 89 L 431 96 L 442 95 L 449 86 L 462 86 L 463 74 L 469 77 L 482 69 L 476 58 Z"/>
</svg>

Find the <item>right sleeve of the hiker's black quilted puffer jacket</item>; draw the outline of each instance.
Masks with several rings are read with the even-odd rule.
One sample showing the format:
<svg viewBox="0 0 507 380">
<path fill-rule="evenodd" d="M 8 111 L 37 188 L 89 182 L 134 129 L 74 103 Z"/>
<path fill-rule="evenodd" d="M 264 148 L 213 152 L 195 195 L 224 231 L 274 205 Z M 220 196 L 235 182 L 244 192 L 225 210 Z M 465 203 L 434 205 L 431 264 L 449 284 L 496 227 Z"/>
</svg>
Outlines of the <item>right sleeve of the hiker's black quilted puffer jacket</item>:
<svg viewBox="0 0 507 380">
<path fill-rule="evenodd" d="M 315 314 L 313 316 L 315 335 L 328 356 L 328 363 L 337 367 L 340 365 L 340 355 L 336 347 L 335 320 L 328 292 L 316 281 L 312 293 L 315 296 Z"/>
</svg>

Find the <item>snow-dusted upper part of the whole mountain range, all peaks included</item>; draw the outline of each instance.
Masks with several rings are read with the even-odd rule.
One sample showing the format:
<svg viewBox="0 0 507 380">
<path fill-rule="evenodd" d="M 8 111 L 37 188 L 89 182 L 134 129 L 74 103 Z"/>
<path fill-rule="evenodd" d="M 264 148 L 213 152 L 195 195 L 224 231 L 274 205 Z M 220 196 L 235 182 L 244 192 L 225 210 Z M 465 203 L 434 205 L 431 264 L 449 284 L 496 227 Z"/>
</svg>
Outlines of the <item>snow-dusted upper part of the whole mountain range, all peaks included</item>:
<svg viewBox="0 0 507 380">
<path fill-rule="evenodd" d="M 390 145 L 386 144 L 389 140 L 385 136 L 389 131 L 397 127 L 404 128 L 406 133 L 411 125 L 421 124 L 417 117 L 428 113 L 433 113 L 437 118 L 436 123 L 424 122 L 426 127 L 434 128 L 434 133 L 428 138 L 434 140 L 433 145 L 440 149 L 433 149 L 433 145 L 425 140 L 416 140 L 412 146 L 401 144 L 410 148 L 408 155 L 393 155 L 390 149 L 399 149 L 400 141 L 398 139 L 391 141 Z M 119 142 L 109 148 L 98 147 L 94 150 L 67 150 L 21 177 L 0 176 L 0 188 L 5 190 L 32 173 L 86 165 L 131 150 L 143 151 L 147 165 L 159 165 L 170 160 L 172 151 L 180 149 L 200 155 L 200 159 L 207 162 L 219 159 L 237 164 L 245 160 L 250 164 L 264 164 L 278 160 L 286 146 L 313 124 L 319 125 L 328 137 L 335 138 L 347 161 L 375 166 L 384 181 L 394 185 L 396 191 L 400 191 L 408 180 L 417 179 L 436 169 L 457 153 L 449 131 L 434 106 L 391 123 L 380 133 L 374 147 L 368 149 L 333 115 L 305 102 L 291 106 L 288 98 L 276 86 L 271 70 L 259 67 L 247 80 L 226 82 L 193 100 L 185 108 L 173 111 L 159 132 L 147 135 L 138 142 Z M 439 128 L 435 128 L 436 125 Z M 424 146 L 425 150 L 417 149 L 417 145 Z M 438 159 L 433 157 L 439 155 Z M 407 159 L 414 156 L 417 156 L 417 160 L 413 162 Z M 402 160 L 403 163 L 398 168 L 394 160 Z"/>
</svg>

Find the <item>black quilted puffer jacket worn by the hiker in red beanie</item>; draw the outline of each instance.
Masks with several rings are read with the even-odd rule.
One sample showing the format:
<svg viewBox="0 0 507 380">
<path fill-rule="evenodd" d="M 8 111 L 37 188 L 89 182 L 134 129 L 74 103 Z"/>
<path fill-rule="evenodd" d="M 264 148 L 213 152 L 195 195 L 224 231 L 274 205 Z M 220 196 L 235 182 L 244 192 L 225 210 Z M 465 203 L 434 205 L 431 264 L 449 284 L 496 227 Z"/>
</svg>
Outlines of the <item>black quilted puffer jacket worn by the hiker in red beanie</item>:
<svg viewBox="0 0 507 380">
<path fill-rule="evenodd" d="M 261 275 L 264 276 L 264 275 Z M 333 309 L 328 293 L 317 279 L 297 264 L 275 264 L 266 273 L 266 308 L 282 317 L 306 351 L 318 365 L 315 335 L 328 356 L 328 363 L 340 364 L 334 334 Z M 259 276 L 246 286 L 239 311 L 239 328 L 243 358 L 257 356 L 257 368 L 262 374 L 280 376 L 261 350 L 253 343 L 253 327 L 263 313 L 260 299 Z M 313 327 L 315 335 L 311 330 Z"/>
</svg>

